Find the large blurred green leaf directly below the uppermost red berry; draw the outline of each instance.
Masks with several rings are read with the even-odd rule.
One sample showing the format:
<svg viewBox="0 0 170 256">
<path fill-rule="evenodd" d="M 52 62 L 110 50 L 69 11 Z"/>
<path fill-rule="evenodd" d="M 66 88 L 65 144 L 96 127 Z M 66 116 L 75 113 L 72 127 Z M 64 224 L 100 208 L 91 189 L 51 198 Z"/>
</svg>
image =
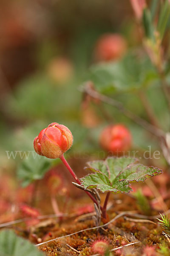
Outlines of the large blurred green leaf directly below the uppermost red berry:
<svg viewBox="0 0 170 256">
<path fill-rule="evenodd" d="M 150 85 L 158 75 L 146 56 L 129 53 L 120 61 L 93 65 L 87 79 L 100 93 L 131 92 Z"/>
</svg>

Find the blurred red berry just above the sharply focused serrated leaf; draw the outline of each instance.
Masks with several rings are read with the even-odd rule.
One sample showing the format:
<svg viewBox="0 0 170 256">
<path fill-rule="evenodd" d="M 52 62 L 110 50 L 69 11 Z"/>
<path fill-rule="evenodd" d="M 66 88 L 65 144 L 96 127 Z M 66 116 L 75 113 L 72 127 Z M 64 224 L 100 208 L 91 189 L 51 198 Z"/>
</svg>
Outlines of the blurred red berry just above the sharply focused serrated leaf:
<svg viewBox="0 0 170 256">
<path fill-rule="evenodd" d="M 106 151 L 118 153 L 130 149 L 132 136 L 130 131 L 121 124 L 108 125 L 100 135 L 100 145 Z"/>
</svg>

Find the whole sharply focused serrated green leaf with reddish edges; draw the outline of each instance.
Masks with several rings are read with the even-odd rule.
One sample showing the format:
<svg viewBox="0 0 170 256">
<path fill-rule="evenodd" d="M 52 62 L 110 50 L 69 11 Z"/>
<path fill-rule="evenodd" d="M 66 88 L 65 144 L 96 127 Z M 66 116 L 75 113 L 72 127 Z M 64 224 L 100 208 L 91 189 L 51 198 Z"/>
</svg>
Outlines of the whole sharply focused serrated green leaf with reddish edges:
<svg viewBox="0 0 170 256">
<path fill-rule="evenodd" d="M 132 157 L 108 157 L 106 160 L 88 162 L 88 171 L 94 172 L 81 179 L 85 189 L 96 188 L 101 192 L 130 192 L 130 182 L 142 182 L 162 173 L 155 167 L 138 163 Z"/>
</svg>

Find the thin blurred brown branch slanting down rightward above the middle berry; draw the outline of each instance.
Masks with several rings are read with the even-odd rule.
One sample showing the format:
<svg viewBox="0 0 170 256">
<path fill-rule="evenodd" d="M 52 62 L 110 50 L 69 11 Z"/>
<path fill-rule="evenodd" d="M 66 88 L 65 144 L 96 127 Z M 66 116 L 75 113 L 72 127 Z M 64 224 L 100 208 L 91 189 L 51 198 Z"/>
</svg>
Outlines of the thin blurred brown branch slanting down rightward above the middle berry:
<svg viewBox="0 0 170 256">
<path fill-rule="evenodd" d="M 88 93 L 91 97 L 94 99 L 99 99 L 102 102 L 105 102 L 109 105 L 112 105 L 113 107 L 117 108 L 120 112 L 122 112 L 125 116 L 132 119 L 134 122 L 136 122 L 138 125 L 141 125 L 144 129 L 149 131 L 151 134 L 156 135 L 157 137 L 164 137 L 164 131 L 162 131 L 159 128 L 156 128 L 154 125 L 151 125 L 146 120 L 142 119 L 140 116 L 137 116 L 135 113 L 131 112 L 130 110 L 126 109 L 122 102 L 119 102 L 115 99 L 112 99 L 108 96 L 105 96 L 101 93 L 98 93 L 97 91 L 91 89 L 90 86 L 91 82 L 88 81 L 83 87 L 81 87 L 79 90 L 85 93 Z"/>
</svg>

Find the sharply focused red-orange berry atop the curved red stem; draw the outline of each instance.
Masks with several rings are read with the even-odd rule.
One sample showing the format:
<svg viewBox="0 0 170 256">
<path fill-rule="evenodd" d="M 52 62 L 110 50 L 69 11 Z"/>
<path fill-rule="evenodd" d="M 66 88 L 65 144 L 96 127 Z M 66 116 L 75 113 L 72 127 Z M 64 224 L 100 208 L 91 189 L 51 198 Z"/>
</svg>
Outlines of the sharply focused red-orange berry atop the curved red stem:
<svg viewBox="0 0 170 256">
<path fill-rule="evenodd" d="M 34 139 L 34 149 L 42 156 L 59 158 L 71 148 L 72 143 L 71 131 L 65 125 L 53 122 Z"/>
</svg>

